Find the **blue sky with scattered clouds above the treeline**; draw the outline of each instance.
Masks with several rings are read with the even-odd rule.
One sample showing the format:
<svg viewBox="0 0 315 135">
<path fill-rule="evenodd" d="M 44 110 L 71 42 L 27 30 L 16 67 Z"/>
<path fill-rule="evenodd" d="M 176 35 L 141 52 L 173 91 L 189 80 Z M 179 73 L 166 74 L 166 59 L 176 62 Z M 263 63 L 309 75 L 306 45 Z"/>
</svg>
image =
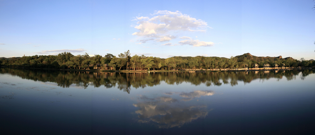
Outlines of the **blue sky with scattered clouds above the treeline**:
<svg viewBox="0 0 315 135">
<path fill-rule="evenodd" d="M 315 59 L 313 0 L 0 0 L 0 57 Z"/>
</svg>

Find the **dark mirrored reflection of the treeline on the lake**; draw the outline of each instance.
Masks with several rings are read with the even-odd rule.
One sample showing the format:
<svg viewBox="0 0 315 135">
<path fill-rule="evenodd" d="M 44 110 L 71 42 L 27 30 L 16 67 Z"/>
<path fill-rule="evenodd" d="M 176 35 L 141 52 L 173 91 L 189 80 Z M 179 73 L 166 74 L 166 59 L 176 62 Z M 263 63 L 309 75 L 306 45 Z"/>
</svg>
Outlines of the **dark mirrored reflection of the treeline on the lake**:
<svg viewBox="0 0 315 135">
<path fill-rule="evenodd" d="M 116 87 L 130 93 L 131 87 L 145 88 L 159 85 L 162 81 L 166 84 L 177 85 L 191 83 L 192 85 L 205 84 L 206 86 L 231 86 L 238 83 L 250 83 L 253 80 L 268 80 L 270 78 L 287 80 L 300 78 L 314 73 L 314 70 L 270 70 L 270 71 L 249 71 L 249 72 L 207 72 L 207 73 L 100 73 L 100 72 L 76 72 L 60 70 L 26 70 L 14 68 L 0 68 L 1 73 L 11 73 L 14 76 L 42 82 L 54 82 L 58 86 L 67 88 L 74 84 L 83 88 L 88 86 L 106 88 Z"/>
</svg>

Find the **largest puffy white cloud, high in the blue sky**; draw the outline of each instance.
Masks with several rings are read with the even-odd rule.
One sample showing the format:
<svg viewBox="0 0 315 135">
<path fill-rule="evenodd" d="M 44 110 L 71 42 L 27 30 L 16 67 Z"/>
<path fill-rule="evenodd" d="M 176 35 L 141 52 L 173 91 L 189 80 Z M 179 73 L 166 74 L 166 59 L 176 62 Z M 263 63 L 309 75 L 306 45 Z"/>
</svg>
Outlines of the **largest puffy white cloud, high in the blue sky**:
<svg viewBox="0 0 315 135">
<path fill-rule="evenodd" d="M 152 18 L 143 16 L 136 17 L 134 20 L 138 22 L 134 28 L 139 31 L 132 35 L 154 38 L 157 42 L 164 42 L 176 38 L 176 36 L 169 35 L 172 32 L 205 32 L 207 27 L 209 27 L 207 22 L 192 18 L 187 14 L 182 14 L 180 11 L 155 11 L 152 16 Z M 190 37 L 183 36 L 181 39 L 190 39 Z"/>
</svg>

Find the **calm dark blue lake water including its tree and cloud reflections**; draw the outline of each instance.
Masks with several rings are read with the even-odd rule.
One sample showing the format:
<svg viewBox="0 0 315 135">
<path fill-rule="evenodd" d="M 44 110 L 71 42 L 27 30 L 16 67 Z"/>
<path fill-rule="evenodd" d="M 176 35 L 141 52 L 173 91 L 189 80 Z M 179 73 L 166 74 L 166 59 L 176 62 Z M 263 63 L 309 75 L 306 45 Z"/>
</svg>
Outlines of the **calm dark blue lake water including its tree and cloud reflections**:
<svg viewBox="0 0 315 135">
<path fill-rule="evenodd" d="M 0 68 L 0 134 L 315 134 L 314 73 Z"/>
</svg>

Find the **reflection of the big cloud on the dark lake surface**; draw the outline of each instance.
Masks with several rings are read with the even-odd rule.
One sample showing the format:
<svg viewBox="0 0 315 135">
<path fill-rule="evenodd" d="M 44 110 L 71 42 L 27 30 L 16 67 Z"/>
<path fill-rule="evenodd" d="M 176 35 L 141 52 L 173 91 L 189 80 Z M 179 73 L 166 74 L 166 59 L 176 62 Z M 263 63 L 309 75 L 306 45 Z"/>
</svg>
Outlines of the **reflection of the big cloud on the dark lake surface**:
<svg viewBox="0 0 315 135">
<path fill-rule="evenodd" d="M 186 123 L 208 115 L 206 105 L 185 105 L 186 101 L 213 94 L 214 92 L 211 90 L 195 90 L 190 93 L 182 92 L 179 94 L 183 97 L 181 100 L 169 96 L 148 98 L 141 95 L 138 98 L 140 100 L 139 103 L 133 105 L 138 107 L 135 113 L 138 114 L 138 122 L 140 123 L 151 122 L 159 128 L 181 127 Z M 166 95 L 173 94 L 169 92 Z"/>
</svg>

